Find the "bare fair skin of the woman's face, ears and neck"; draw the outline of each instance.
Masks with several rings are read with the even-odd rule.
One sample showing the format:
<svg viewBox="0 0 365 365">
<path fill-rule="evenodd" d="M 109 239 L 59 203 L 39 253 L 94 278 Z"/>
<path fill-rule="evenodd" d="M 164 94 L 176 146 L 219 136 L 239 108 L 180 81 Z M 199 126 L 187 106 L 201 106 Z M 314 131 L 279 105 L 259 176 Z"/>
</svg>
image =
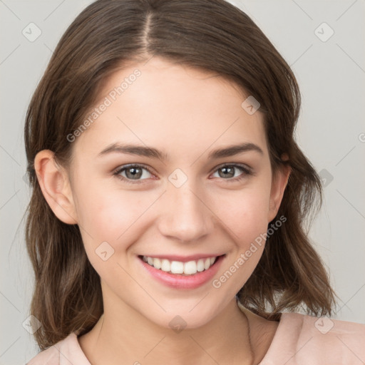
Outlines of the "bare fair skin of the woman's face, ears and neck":
<svg viewBox="0 0 365 365">
<path fill-rule="evenodd" d="M 241 107 L 247 98 L 221 76 L 153 57 L 116 71 L 101 100 L 135 68 L 141 76 L 116 98 L 73 142 L 69 170 L 50 150 L 36 155 L 41 190 L 58 219 L 81 228 L 86 254 L 101 277 L 104 314 L 78 338 L 93 365 L 257 364 L 269 348 L 278 322 L 237 307 L 235 294 L 262 255 L 262 247 L 220 288 L 212 281 L 196 289 L 173 289 L 140 269 L 138 255 L 225 254 L 219 278 L 277 215 L 289 170 L 275 178 L 269 163 L 263 116 Z M 97 105 L 96 105 L 97 106 Z M 110 143 L 158 148 L 160 160 L 138 155 L 98 153 Z M 242 142 L 255 143 L 262 155 L 247 151 L 208 160 L 210 151 Z M 143 163 L 151 173 L 133 183 L 130 170 Z M 219 173 L 219 165 L 242 164 L 255 172 Z M 175 187 L 168 177 L 179 168 L 187 177 Z M 128 175 L 126 175 L 128 173 Z M 232 178 L 244 175 L 240 181 Z M 96 255 L 101 242 L 114 253 Z M 186 322 L 176 333 L 169 322 Z M 250 334 L 249 334 L 250 326 Z M 123 362 L 121 362 L 123 361 Z M 215 362 L 216 361 L 216 362 Z"/>
</svg>

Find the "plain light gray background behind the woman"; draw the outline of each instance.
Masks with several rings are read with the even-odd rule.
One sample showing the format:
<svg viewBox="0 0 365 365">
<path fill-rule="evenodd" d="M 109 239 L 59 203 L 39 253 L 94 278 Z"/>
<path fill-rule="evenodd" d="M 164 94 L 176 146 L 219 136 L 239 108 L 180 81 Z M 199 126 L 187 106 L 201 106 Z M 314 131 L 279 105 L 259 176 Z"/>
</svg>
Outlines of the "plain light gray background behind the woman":
<svg viewBox="0 0 365 365">
<path fill-rule="evenodd" d="M 325 186 L 309 235 L 341 298 L 335 318 L 365 323 L 365 1 L 230 2 L 247 12 L 297 76 L 303 98 L 297 141 Z M 38 352 L 23 327 L 33 289 L 23 220 L 30 197 L 26 108 L 56 43 L 88 4 L 0 0 L 0 364 L 25 364 Z M 34 41 L 22 34 L 36 35 L 31 22 L 41 30 Z"/>
</svg>

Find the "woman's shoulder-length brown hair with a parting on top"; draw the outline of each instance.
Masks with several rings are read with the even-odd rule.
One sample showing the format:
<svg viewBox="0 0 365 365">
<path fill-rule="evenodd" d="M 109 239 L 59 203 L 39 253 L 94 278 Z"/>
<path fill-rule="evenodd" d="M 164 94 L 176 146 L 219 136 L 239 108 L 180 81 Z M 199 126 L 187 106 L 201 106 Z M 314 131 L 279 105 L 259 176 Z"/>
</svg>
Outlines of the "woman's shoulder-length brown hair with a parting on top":
<svg viewBox="0 0 365 365">
<path fill-rule="evenodd" d="M 68 166 L 72 143 L 66 135 L 81 125 L 107 76 L 152 56 L 213 71 L 254 96 L 264 113 L 273 173 L 284 164 L 292 170 L 277 213 L 287 221 L 267 238 L 259 264 L 237 293 L 240 302 L 268 319 L 301 306 L 308 314 L 330 315 L 335 294 L 304 229 L 309 213 L 322 205 L 322 185 L 294 141 L 300 93 L 282 56 L 244 12 L 223 0 L 98 0 L 63 34 L 26 114 L 33 188 L 26 245 L 35 272 L 31 314 L 42 324 L 34 334 L 40 348 L 72 331 L 90 331 L 103 313 L 103 298 L 78 225 L 53 214 L 34 158 L 49 149 Z M 281 160 L 282 153 L 289 160 Z"/>
</svg>

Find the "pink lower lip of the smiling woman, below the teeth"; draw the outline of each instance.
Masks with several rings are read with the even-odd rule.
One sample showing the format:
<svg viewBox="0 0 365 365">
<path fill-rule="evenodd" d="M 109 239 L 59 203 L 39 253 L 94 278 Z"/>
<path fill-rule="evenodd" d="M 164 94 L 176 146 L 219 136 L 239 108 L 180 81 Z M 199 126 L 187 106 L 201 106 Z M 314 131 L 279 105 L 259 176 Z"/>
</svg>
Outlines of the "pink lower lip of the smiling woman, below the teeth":
<svg viewBox="0 0 365 365">
<path fill-rule="evenodd" d="M 197 272 L 193 275 L 182 275 L 182 274 L 169 274 L 160 269 L 156 269 L 147 262 L 144 262 L 141 257 L 138 260 L 143 265 L 143 267 L 155 278 L 158 282 L 161 282 L 168 287 L 173 287 L 175 289 L 195 289 L 202 286 L 206 282 L 210 281 L 215 274 L 217 274 L 220 264 L 224 259 L 225 255 L 218 257 L 212 266 L 202 272 Z"/>
</svg>

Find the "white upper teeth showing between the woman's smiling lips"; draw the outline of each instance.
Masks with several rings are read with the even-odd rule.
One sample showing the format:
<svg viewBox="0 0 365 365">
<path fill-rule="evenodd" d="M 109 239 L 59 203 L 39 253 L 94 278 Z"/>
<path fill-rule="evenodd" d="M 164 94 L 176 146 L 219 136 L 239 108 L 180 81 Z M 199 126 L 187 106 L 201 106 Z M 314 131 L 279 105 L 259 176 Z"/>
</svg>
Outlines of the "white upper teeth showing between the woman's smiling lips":
<svg viewBox="0 0 365 365">
<path fill-rule="evenodd" d="M 224 256 L 224 255 L 221 255 Z M 174 261 L 169 259 L 159 259 L 158 257 L 149 257 L 139 255 L 138 257 L 150 266 L 155 267 L 168 274 L 183 274 L 186 276 L 194 275 L 197 272 L 203 272 L 212 267 L 217 259 L 221 256 L 206 257 L 188 262 Z"/>
</svg>

